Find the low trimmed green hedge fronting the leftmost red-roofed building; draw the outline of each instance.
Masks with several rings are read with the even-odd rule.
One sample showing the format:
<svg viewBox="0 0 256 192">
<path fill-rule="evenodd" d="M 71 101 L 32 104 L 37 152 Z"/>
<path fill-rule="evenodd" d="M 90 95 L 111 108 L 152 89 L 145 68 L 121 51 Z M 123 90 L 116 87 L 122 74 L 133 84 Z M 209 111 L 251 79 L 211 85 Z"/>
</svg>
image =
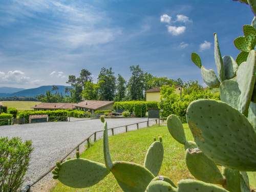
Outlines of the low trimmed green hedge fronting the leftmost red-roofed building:
<svg viewBox="0 0 256 192">
<path fill-rule="evenodd" d="M 25 118 L 29 121 L 30 115 L 48 115 L 49 117 L 66 117 L 68 116 L 68 110 L 55 110 L 55 111 L 19 111 L 17 117 Z"/>
</svg>

